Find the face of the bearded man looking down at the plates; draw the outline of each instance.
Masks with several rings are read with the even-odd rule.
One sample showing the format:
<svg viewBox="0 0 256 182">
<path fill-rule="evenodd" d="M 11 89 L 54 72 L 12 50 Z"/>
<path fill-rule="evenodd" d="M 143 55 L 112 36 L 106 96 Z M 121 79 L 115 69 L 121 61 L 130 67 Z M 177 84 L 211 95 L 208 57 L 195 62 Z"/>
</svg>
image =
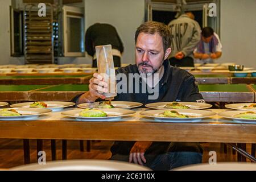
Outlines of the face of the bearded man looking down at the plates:
<svg viewBox="0 0 256 182">
<path fill-rule="evenodd" d="M 171 48 L 168 48 L 164 53 L 163 40 L 159 34 L 140 33 L 135 49 L 139 73 L 145 73 L 148 76 L 158 71 L 170 52 Z"/>
</svg>

